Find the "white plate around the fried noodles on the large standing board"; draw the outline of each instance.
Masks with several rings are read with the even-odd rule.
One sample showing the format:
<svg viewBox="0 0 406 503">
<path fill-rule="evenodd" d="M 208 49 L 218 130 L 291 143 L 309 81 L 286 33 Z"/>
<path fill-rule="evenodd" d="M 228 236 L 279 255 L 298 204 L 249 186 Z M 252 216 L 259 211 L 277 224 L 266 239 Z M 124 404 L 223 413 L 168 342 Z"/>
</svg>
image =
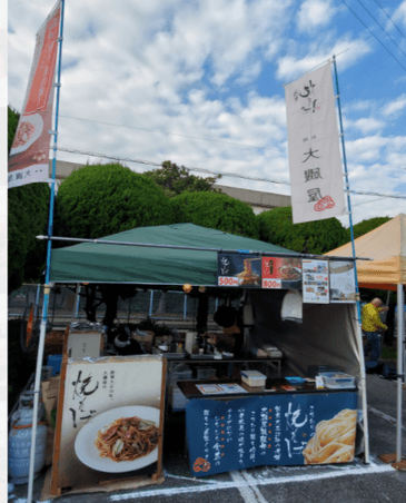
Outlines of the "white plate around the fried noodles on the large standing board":
<svg viewBox="0 0 406 503">
<path fill-rule="evenodd" d="M 158 447 L 146 456 L 133 461 L 112 461 L 109 457 L 100 457 L 99 450 L 95 445 L 97 433 L 120 417 L 138 416 L 141 420 L 154 421 L 159 427 L 159 408 L 133 405 L 128 407 L 112 408 L 93 417 L 78 433 L 75 441 L 75 451 L 79 460 L 90 469 L 106 473 L 132 472 L 158 461 Z"/>
</svg>

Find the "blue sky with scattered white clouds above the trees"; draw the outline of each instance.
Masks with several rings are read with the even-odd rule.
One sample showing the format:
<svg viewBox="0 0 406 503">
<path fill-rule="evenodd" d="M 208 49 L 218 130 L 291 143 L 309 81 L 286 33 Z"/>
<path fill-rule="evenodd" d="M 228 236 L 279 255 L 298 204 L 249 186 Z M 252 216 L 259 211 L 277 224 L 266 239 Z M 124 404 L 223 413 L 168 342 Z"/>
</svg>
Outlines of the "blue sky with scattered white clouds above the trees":
<svg viewBox="0 0 406 503">
<path fill-rule="evenodd" d="M 8 100 L 18 110 L 53 3 L 9 2 Z M 289 194 L 283 85 L 333 55 L 350 188 L 406 196 L 405 0 L 67 0 L 59 146 L 170 159 L 221 172 L 222 185 Z M 351 203 L 355 223 L 406 213 L 406 199 Z"/>
</svg>

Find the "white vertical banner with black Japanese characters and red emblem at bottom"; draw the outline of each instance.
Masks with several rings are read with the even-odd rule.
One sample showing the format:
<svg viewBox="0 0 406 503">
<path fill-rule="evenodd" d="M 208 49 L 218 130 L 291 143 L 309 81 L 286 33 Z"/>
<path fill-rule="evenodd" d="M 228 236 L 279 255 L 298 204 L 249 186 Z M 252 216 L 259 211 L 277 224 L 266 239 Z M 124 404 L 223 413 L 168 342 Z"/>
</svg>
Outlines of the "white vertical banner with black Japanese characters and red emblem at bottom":
<svg viewBox="0 0 406 503">
<path fill-rule="evenodd" d="M 330 63 L 285 86 L 294 224 L 346 214 Z"/>
</svg>

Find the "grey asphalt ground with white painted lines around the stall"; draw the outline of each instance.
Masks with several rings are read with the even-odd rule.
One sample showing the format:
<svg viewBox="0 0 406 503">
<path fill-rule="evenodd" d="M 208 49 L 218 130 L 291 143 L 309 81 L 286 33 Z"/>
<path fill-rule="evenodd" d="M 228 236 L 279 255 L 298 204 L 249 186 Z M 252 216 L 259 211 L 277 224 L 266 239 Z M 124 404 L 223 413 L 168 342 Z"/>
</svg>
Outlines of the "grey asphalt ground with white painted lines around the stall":
<svg viewBox="0 0 406 503">
<path fill-rule="evenodd" d="M 403 395 L 406 389 L 403 389 Z M 383 454 L 396 452 L 396 381 L 367 376 L 370 463 L 362 458 L 336 465 L 268 467 L 227 472 L 195 479 L 185 455 L 185 416 L 166 418 L 164 469 L 165 481 L 119 492 L 66 494 L 57 503 L 139 502 L 139 503 L 265 503 L 265 502 L 368 502 L 404 503 L 406 472 L 380 461 Z M 406 457 L 406 400 L 403 401 L 403 455 Z M 34 481 L 33 499 L 40 501 L 43 472 Z M 10 486 L 11 502 L 27 501 L 27 485 Z"/>
</svg>

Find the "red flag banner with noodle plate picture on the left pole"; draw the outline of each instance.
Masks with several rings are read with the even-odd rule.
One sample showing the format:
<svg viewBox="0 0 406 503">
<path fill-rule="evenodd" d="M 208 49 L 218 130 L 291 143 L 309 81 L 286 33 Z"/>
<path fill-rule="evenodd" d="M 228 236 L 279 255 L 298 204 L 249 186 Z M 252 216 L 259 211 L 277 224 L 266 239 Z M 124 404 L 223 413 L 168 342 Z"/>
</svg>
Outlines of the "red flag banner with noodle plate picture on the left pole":
<svg viewBox="0 0 406 503">
<path fill-rule="evenodd" d="M 37 33 L 24 105 L 9 157 L 9 188 L 49 179 L 60 3 L 57 2 Z"/>
</svg>

